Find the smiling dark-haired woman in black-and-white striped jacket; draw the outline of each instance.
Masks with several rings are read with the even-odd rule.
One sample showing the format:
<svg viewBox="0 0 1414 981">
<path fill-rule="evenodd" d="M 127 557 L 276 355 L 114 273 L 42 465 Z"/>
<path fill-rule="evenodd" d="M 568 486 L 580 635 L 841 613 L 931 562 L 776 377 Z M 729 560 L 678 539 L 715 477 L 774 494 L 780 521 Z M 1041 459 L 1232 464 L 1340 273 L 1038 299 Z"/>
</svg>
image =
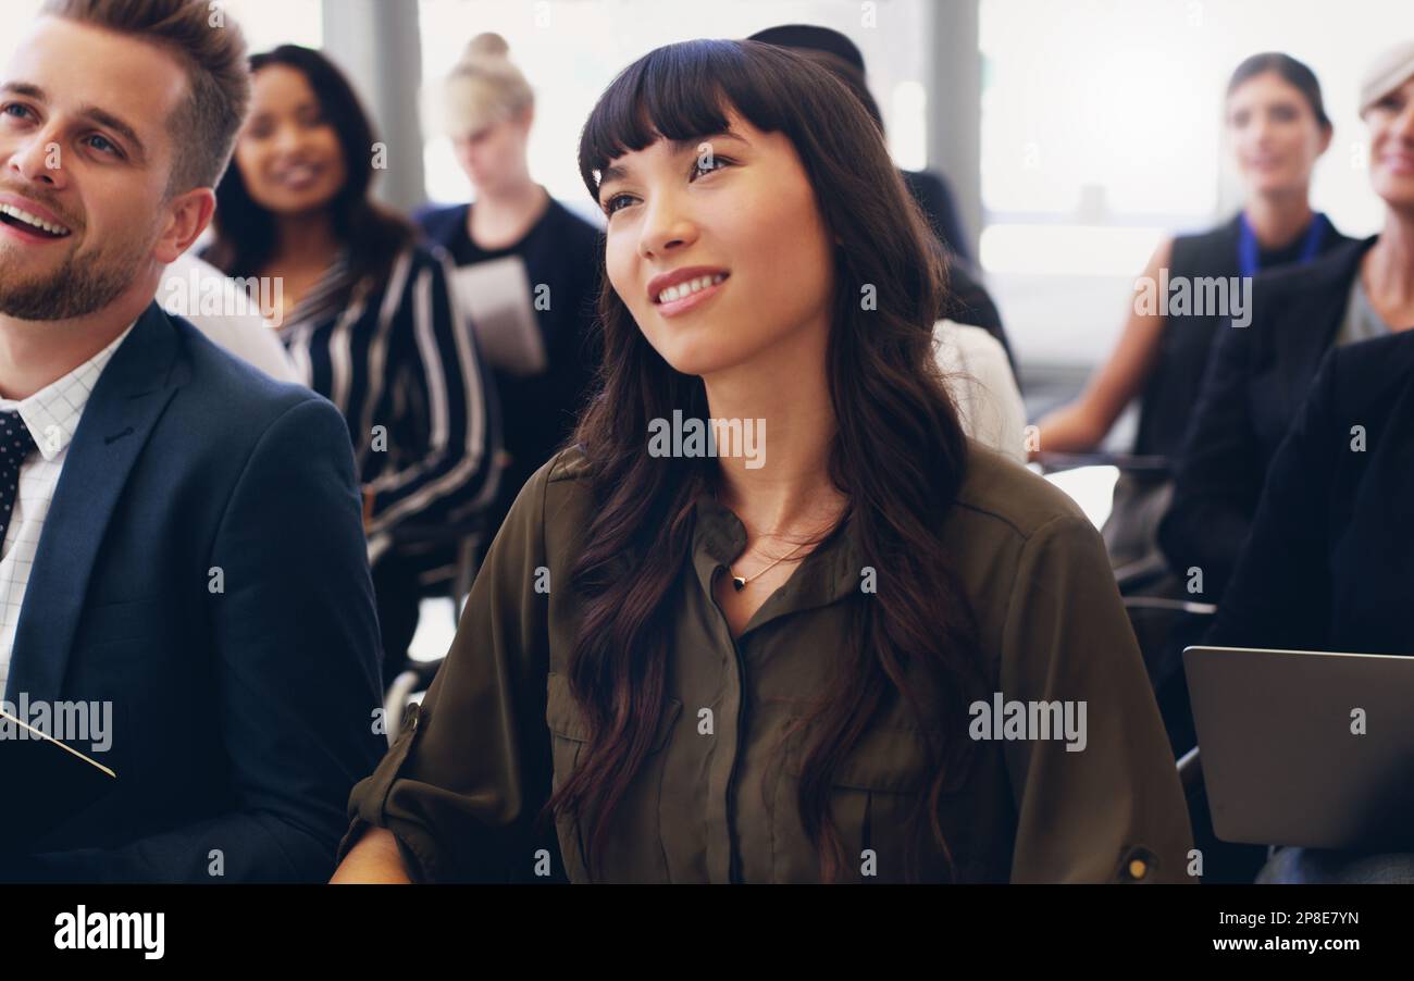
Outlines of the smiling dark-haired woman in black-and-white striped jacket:
<svg viewBox="0 0 1414 981">
<path fill-rule="evenodd" d="M 406 663 L 421 592 L 452 563 L 450 544 L 403 533 L 475 503 L 491 396 L 441 263 L 370 195 L 375 137 L 348 81 L 296 45 L 250 68 L 250 114 L 216 188 L 205 257 L 228 276 L 283 281 L 266 294 L 283 310 L 267 312 L 303 380 L 348 421 L 387 681 Z"/>
</svg>

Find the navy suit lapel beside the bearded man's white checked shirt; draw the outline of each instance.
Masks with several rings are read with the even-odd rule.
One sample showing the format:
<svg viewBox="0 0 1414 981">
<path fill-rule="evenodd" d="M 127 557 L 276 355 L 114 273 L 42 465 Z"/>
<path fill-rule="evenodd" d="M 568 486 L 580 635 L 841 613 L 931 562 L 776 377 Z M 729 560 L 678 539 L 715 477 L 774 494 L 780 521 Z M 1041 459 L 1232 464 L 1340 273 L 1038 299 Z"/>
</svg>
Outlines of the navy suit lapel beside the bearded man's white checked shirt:
<svg viewBox="0 0 1414 981">
<path fill-rule="evenodd" d="M 57 701 L 93 561 L 127 475 L 180 386 L 177 334 L 157 304 L 103 369 L 69 442 L 16 629 L 6 700 Z"/>
</svg>

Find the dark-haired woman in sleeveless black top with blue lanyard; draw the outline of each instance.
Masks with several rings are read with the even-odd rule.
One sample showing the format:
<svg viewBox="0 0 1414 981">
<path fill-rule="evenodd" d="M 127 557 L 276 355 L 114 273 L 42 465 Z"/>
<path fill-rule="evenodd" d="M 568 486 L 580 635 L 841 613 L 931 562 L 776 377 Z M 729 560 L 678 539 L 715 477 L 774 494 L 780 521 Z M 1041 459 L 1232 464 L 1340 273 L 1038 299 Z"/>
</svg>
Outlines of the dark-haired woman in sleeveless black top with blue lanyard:
<svg viewBox="0 0 1414 981">
<path fill-rule="evenodd" d="M 1186 281 L 1193 287 L 1209 277 L 1230 283 L 1275 266 L 1308 263 L 1349 242 L 1309 204 L 1311 172 L 1332 136 L 1311 69 L 1284 54 L 1247 58 L 1227 83 L 1226 117 L 1233 155 L 1247 184 L 1243 211 L 1210 232 L 1159 245 L 1141 283 Z M 1161 274 L 1165 270 L 1167 277 Z M 1193 290 L 1192 295 L 1200 293 Z M 1135 300 L 1118 343 L 1085 393 L 1041 420 L 1039 452 L 1094 450 L 1138 397 L 1134 452 L 1167 459 L 1178 455 L 1213 338 L 1232 311 L 1168 315 L 1165 310 Z M 1162 472 L 1120 479 L 1106 526 L 1117 567 L 1157 554 L 1155 529 L 1171 488 Z"/>
</svg>

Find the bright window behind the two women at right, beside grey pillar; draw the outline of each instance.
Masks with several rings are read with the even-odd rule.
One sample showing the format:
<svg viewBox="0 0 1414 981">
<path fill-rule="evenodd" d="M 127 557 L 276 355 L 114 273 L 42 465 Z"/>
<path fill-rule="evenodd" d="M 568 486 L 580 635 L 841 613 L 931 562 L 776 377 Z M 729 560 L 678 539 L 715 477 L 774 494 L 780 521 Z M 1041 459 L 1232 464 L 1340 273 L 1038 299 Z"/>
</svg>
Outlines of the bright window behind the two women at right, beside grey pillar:
<svg viewBox="0 0 1414 981">
<path fill-rule="evenodd" d="M 1104 358 L 1158 242 L 1237 211 L 1223 95 L 1247 55 L 1316 72 L 1335 139 L 1312 202 L 1348 235 L 1379 228 L 1356 92 L 1407 0 L 978 1 L 980 252 L 1025 360 Z"/>
</svg>

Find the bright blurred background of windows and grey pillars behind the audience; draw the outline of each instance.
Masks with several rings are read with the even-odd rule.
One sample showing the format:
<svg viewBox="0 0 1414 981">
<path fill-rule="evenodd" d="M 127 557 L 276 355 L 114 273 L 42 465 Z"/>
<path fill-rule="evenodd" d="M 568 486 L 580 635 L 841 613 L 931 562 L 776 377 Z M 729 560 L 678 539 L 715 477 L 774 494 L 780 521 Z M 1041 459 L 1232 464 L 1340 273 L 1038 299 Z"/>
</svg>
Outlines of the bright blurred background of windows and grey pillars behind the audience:
<svg viewBox="0 0 1414 981">
<path fill-rule="evenodd" d="M 40 0 L 6 0 L 21 27 Z M 1356 85 L 1380 48 L 1414 35 L 1410 0 L 212 0 L 252 49 L 325 48 L 352 75 L 387 144 L 383 196 L 402 208 L 469 191 L 419 92 L 479 31 L 498 31 L 536 88 L 532 172 L 598 221 L 574 161 L 580 126 L 615 72 L 693 37 L 785 23 L 860 45 L 906 168 L 943 171 L 1035 390 L 1073 387 L 1118 332 L 1159 237 L 1226 218 L 1229 72 L 1287 51 L 1321 78 L 1335 140 L 1314 204 L 1373 232 Z M 0 38 L 0 57 L 23 35 Z M 1039 386 L 1039 387 L 1036 387 Z"/>
</svg>

